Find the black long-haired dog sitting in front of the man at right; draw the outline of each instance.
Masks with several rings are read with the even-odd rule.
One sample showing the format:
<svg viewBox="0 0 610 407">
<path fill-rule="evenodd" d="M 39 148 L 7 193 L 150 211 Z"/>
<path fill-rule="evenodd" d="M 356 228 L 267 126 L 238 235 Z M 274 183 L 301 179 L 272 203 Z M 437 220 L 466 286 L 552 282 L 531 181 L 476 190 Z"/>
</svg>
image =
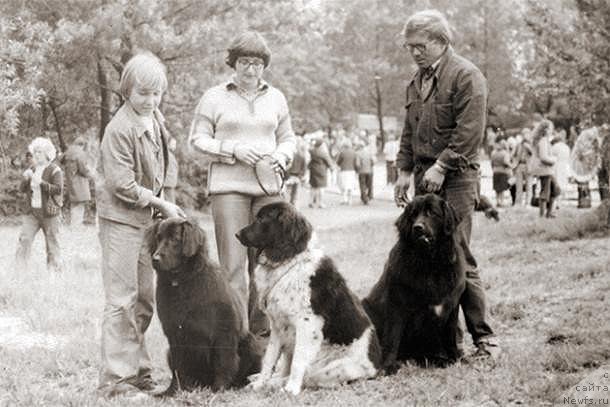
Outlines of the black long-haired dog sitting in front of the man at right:
<svg viewBox="0 0 610 407">
<path fill-rule="evenodd" d="M 459 221 L 435 194 L 417 196 L 396 221 L 399 239 L 363 305 L 375 324 L 388 373 L 398 361 L 445 366 L 457 346 L 459 300 L 465 287 Z"/>
</svg>

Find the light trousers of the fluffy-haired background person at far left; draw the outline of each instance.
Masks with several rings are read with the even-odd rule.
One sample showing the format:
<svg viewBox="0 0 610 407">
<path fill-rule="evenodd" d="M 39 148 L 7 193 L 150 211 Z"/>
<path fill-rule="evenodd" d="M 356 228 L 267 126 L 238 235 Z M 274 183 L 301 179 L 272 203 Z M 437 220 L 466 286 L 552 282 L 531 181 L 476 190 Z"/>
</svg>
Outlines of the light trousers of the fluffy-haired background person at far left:
<svg viewBox="0 0 610 407">
<path fill-rule="evenodd" d="M 32 212 L 23 216 L 15 266 L 19 271 L 25 271 L 30 260 L 32 243 L 36 233 L 42 229 L 47 246 L 47 268 L 59 270 L 61 268 L 61 255 L 59 248 L 59 216 L 44 216 L 40 208 L 32 208 Z"/>
</svg>

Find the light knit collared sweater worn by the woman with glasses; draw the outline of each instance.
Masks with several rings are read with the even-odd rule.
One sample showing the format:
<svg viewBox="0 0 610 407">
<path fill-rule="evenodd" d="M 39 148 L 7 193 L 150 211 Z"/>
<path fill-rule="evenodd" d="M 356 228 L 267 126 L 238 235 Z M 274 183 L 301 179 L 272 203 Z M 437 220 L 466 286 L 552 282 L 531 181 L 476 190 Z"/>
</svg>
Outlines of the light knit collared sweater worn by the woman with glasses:
<svg viewBox="0 0 610 407">
<path fill-rule="evenodd" d="M 208 191 L 262 196 L 254 169 L 235 159 L 235 146 L 256 146 L 288 165 L 296 149 L 286 98 L 261 81 L 256 97 L 248 100 L 233 81 L 205 92 L 191 125 L 189 143 L 210 158 Z"/>
</svg>

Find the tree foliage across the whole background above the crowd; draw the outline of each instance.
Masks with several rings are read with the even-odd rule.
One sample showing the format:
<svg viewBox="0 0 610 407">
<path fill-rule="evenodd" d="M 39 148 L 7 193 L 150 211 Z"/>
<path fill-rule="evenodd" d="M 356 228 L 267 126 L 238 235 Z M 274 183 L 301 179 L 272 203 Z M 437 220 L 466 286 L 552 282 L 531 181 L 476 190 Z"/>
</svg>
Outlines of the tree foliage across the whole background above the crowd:
<svg viewBox="0 0 610 407">
<path fill-rule="evenodd" d="M 401 30 L 411 13 L 430 7 L 446 13 L 455 49 L 487 76 L 496 125 L 521 123 L 520 110 L 607 117 L 603 0 L 5 0 L 0 173 L 33 135 L 61 150 L 80 134 L 101 137 L 122 102 L 123 64 L 143 49 L 168 68 L 162 110 L 184 144 L 198 99 L 231 74 L 227 45 L 246 29 L 269 42 L 265 75 L 286 94 L 297 132 L 350 127 L 356 112 L 401 120 L 416 69 Z M 569 105 L 559 111 L 553 101 L 562 97 Z M 181 162 L 182 174 L 189 165 Z"/>
</svg>

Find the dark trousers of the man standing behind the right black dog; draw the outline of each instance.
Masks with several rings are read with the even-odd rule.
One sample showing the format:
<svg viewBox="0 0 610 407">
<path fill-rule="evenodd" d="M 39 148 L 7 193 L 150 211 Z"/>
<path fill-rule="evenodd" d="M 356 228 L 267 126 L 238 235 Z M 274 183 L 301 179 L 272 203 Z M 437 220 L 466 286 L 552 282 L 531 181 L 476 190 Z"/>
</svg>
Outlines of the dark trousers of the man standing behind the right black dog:
<svg viewBox="0 0 610 407">
<path fill-rule="evenodd" d="M 421 180 L 428 167 L 415 166 L 415 193 L 424 194 Z M 469 168 L 464 172 L 449 172 L 441 188 L 440 196 L 455 210 L 461 222 L 457 233 L 466 257 L 466 289 L 460 299 L 466 327 L 476 344 L 485 337 L 493 335 L 493 330 L 485 321 L 486 304 L 483 283 L 479 276 L 477 262 L 470 251 L 472 214 L 479 199 L 480 174 L 478 169 Z"/>
</svg>

